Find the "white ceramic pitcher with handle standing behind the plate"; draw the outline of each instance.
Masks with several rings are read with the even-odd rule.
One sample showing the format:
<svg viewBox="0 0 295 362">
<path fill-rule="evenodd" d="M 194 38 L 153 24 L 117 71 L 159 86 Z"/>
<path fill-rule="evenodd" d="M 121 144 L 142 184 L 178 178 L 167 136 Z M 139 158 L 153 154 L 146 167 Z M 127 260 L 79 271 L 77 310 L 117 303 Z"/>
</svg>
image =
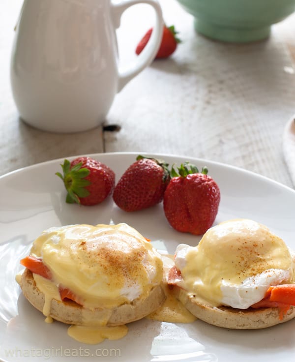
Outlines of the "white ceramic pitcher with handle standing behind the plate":
<svg viewBox="0 0 295 362">
<path fill-rule="evenodd" d="M 156 23 L 135 65 L 118 67 L 116 29 L 137 3 Z M 163 30 L 157 0 L 25 0 L 11 56 L 11 87 L 21 118 L 51 132 L 79 132 L 105 121 L 114 97 L 154 59 Z"/>
</svg>

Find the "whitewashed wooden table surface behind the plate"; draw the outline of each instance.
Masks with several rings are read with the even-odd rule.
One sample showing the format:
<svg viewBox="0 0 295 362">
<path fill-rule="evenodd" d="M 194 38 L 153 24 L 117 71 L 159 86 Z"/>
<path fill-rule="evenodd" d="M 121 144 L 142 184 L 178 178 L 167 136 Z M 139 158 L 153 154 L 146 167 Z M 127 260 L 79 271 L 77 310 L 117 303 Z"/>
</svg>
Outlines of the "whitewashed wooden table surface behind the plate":
<svg viewBox="0 0 295 362">
<path fill-rule="evenodd" d="M 160 0 L 164 20 L 182 43 L 155 60 L 115 98 L 103 126 L 53 134 L 21 121 L 9 80 L 10 52 L 22 0 L 0 3 L 0 175 L 78 154 L 138 151 L 201 157 L 294 187 L 282 134 L 295 113 L 295 14 L 252 44 L 226 44 L 196 34 L 174 0 Z M 152 24 L 146 5 L 127 10 L 118 30 L 122 62 Z"/>
</svg>

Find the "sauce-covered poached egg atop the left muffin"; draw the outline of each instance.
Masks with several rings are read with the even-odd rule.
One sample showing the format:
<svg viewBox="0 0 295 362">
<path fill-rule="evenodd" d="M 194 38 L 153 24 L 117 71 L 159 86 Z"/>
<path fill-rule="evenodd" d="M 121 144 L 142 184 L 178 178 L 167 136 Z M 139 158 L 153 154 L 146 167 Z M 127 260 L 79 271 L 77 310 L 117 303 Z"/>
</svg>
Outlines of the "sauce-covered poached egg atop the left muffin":
<svg viewBox="0 0 295 362">
<path fill-rule="evenodd" d="M 124 223 L 53 227 L 33 242 L 30 254 L 42 259 L 54 284 L 89 309 L 144 299 L 162 281 L 160 255 Z"/>
</svg>

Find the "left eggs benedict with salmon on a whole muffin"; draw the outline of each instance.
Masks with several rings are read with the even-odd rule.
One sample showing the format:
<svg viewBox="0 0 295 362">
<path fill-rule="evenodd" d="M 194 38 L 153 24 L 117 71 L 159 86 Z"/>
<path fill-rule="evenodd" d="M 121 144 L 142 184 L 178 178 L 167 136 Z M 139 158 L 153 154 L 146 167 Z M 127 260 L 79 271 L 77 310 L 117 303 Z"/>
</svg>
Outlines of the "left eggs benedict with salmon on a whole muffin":
<svg viewBox="0 0 295 362">
<path fill-rule="evenodd" d="M 23 294 L 47 322 L 106 329 L 141 319 L 165 300 L 160 255 L 124 223 L 50 228 L 21 264 Z"/>
</svg>

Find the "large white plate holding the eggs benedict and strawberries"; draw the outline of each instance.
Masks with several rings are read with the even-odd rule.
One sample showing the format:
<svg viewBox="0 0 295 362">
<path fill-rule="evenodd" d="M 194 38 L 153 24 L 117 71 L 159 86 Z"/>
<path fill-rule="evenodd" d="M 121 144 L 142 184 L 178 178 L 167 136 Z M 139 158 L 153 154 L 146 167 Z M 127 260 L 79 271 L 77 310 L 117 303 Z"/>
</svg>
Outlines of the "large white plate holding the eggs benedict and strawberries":
<svg viewBox="0 0 295 362">
<path fill-rule="evenodd" d="M 135 161 L 136 153 L 92 155 L 110 166 L 117 181 Z M 158 155 L 159 156 L 159 155 Z M 215 223 L 236 217 L 269 226 L 295 249 L 295 191 L 259 175 L 214 162 L 160 155 L 167 162 L 184 160 L 207 165 L 219 184 L 221 203 Z M 12 172 L 0 178 L 0 359 L 4 361 L 294 361 L 295 320 L 257 331 L 236 331 L 202 321 L 173 324 L 131 323 L 126 337 L 95 346 L 67 336 L 59 322 L 46 324 L 20 293 L 15 274 L 31 242 L 51 227 L 73 223 L 127 222 L 157 247 L 173 253 L 180 242 L 197 244 L 199 238 L 177 233 L 165 219 L 162 206 L 126 213 L 111 198 L 101 205 L 67 205 L 62 182 L 55 176 L 62 160 Z M 213 266 L 212 266 L 213 267 Z"/>
</svg>

